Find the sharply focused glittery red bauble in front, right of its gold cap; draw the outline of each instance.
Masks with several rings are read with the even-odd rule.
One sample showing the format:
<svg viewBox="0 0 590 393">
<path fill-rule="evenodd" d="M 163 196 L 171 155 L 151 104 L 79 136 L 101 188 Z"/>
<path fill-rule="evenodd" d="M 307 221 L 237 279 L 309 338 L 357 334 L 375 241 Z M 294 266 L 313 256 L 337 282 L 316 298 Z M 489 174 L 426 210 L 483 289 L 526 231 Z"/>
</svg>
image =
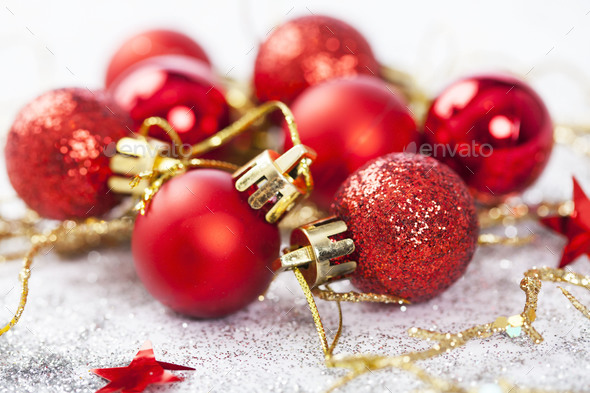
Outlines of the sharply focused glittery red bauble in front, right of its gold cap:
<svg viewBox="0 0 590 393">
<path fill-rule="evenodd" d="M 365 292 L 432 299 L 463 275 L 477 245 L 467 187 L 430 157 L 371 161 L 344 182 L 332 210 L 354 240 L 351 281 Z"/>
</svg>

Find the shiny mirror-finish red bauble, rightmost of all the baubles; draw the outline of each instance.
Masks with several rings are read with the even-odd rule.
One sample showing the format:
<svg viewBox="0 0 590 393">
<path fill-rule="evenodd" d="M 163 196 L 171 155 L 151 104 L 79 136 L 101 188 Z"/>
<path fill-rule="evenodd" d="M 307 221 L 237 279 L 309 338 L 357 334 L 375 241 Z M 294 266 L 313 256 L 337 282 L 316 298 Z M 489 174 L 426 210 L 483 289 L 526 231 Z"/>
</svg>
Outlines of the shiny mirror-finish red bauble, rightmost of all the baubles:
<svg viewBox="0 0 590 393">
<path fill-rule="evenodd" d="M 553 125 L 541 98 L 523 81 L 476 76 L 455 82 L 434 100 L 424 137 L 424 153 L 453 168 L 478 199 L 497 202 L 539 177 L 553 147 Z"/>
</svg>

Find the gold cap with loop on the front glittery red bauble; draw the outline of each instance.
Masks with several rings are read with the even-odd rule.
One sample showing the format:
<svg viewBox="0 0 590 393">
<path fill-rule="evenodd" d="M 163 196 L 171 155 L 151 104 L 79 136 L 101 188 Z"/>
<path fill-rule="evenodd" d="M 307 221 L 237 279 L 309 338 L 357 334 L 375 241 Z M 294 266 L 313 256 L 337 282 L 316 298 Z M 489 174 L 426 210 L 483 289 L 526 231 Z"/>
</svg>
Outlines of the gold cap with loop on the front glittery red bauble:
<svg viewBox="0 0 590 393">
<path fill-rule="evenodd" d="M 356 262 L 333 263 L 334 259 L 354 252 L 352 239 L 338 239 L 347 229 L 346 223 L 336 216 L 296 228 L 291 234 L 291 247 L 275 261 L 274 270 L 285 271 L 297 267 L 311 288 L 352 273 L 356 269 Z"/>
</svg>

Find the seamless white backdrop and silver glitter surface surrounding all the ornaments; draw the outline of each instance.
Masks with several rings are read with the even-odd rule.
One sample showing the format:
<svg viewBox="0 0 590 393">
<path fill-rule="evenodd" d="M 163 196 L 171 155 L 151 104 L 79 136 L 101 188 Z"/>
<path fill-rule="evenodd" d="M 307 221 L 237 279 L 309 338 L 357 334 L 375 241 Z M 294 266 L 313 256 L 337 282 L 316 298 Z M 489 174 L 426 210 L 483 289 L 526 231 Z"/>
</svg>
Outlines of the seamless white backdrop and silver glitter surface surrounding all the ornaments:
<svg viewBox="0 0 590 393">
<path fill-rule="evenodd" d="M 382 63 L 412 74 L 431 94 L 466 73 L 508 70 L 526 76 L 557 122 L 590 124 L 590 3 L 584 1 L 0 1 L 0 135 L 16 111 L 43 91 L 100 88 L 110 54 L 143 29 L 184 31 L 220 74 L 248 80 L 252 47 L 276 24 L 310 12 L 357 27 Z M 533 193 L 569 197 L 572 173 L 590 191 L 588 161 L 556 149 Z M 4 173 L 0 179 L 6 197 L 11 191 Z M 424 347 L 405 336 L 409 327 L 456 331 L 520 312 L 522 272 L 555 266 L 558 257 L 548 249 L 559 253 L 564 244 L 533 228 L 541 234 L 534 244 L 480 250 L 465 278 L 426 304 L 406 312 L 346 305 L 341 351 L 396 354 Z M 226 320 L 196 322 L 145 293 L 127 251 L 68 262 L 45 257 L 37 266 L 21 325 L 0 338 L 0 391 L 98 389 L 103 381 L 87 370 L 126 364 L 146 338 L 159 359 L 197 368 L 172 391 L 323 391 L 341 375 L 323 368 L 291 277 L 278 280 L 266 302 Z M 586 258 L 572 268 L 590 271 Z M 18 289 L 4 295 L 15 288 L 16 276 L 16 264 L 0 266 L 0 304 L 16 304 Z M 521 387 L 587 389 L 589 321 L 567 308 L 556 289 L 546 291 L 538 322 L 544 344 L 494 337 L 423 365 L 467 387 L 502 377 Z M 588 304 L 587 293 L 576 294 Z M 333 308 L 323 307 L 333 326 Z M 9 315 L 0 309 L 2 321 Z M 405 374 L 382 372 L 349 391 L 418 386 Z"/>
</svg>

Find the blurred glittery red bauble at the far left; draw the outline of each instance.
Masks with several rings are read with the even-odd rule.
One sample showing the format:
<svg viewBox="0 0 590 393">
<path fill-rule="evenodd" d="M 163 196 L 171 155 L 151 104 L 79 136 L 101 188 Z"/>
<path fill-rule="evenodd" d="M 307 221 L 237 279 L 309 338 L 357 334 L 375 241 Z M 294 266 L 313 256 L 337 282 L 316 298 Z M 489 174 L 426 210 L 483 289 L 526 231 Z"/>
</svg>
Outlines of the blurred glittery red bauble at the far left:
<svg viewBox="0 0 590 393">
<path fill-rule="evenodd" d="M 131 121 L 87 89 L 47 92 L 16 116 L 6 141 L 6 169 L 17 194 L 39 215 L 57 220 L 100 216 L 119 198 L 107 181 L 103 149 L 128 134 Z M 112 153 L 112 152 L 111 152 Z"/>
</svg>

